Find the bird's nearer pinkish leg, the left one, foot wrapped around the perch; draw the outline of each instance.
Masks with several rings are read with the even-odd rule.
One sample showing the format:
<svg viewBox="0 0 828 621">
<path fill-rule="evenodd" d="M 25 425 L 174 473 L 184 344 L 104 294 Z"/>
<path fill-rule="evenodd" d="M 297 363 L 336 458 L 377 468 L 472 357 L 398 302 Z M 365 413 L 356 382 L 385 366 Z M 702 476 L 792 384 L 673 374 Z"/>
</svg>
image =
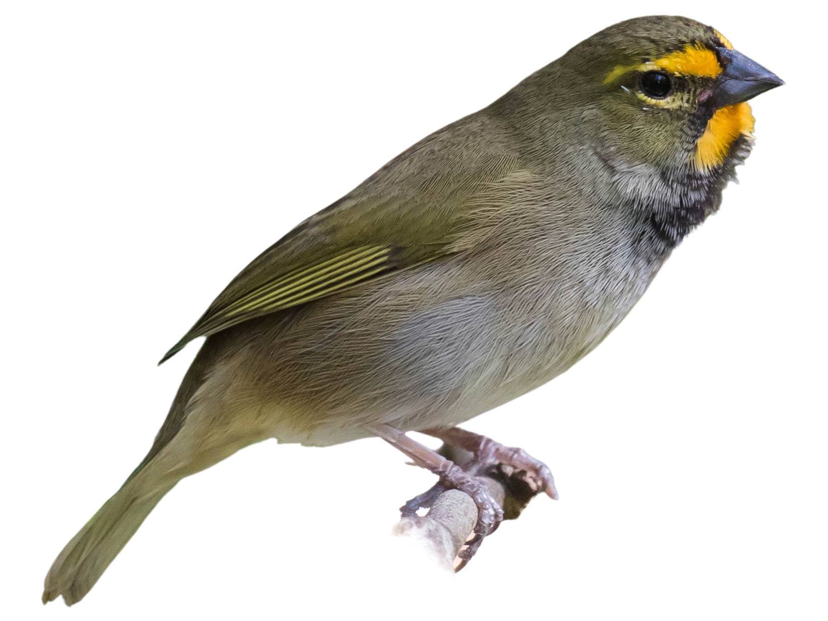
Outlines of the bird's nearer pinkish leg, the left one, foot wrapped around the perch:
<svg viewBox="0 0 828 621">
<path fill-rule="evenodd" d="M 407 509 L 413 508 L 415 504 L 417 505 L 416 508 L 427 506 L 421 504 L 422 501 L 429 504 L 433 503 L 436 497 L 445 489 L 459 489 L 461 492 L 468 493 L 474 500 L 474 504 L 478 508 L 477 523 L 474 525 L 474 538 L 468 543 L 468 547 L 460 553 L 460 557 L 468 560 L 471 556 L 474 556 L 474 552 L 483 542 L 483 538 L 503 520 L 503 508 L 489 495 L 486 486 L 453 461 L 445 459 L 436 451 L 412 440 L 405 433 L 392 426 L 375 426 L 371 427 L 371 431 L 387 441 L 388 444 L 402 450 L 416 465 L 440 477 L 440 481 L 433 488 L 416 498 L 412 498 L 402 507 L 403 515 L 406 514 Z M 437 491 L 438 489 L 439 491 Z M 414 513 L 416 513 L 416 508 L 414 508 Z"/>
</svg>

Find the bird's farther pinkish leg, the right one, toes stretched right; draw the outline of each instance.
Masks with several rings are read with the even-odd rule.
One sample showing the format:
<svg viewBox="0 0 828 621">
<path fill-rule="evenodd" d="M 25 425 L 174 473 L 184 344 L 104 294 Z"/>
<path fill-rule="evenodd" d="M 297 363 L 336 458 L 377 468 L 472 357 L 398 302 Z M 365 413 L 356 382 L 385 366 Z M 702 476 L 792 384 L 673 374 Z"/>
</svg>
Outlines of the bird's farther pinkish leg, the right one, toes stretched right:
<svg viewBox="0 0 828 621">
<path fill-rule="evenodd" d="M 521 470 L 526 473 L 525 479 L 532 489 L 536 492 L 544 491 L 550 498 L 558 498 L 550 469 L 523 449 L 503 446 L 486 436 L 479 436 L 460 427 L 426 429 L 422 432 L 443 440 L 447 445 L 471 451 L 480 465 L 502 464 Z"/>
</svg>

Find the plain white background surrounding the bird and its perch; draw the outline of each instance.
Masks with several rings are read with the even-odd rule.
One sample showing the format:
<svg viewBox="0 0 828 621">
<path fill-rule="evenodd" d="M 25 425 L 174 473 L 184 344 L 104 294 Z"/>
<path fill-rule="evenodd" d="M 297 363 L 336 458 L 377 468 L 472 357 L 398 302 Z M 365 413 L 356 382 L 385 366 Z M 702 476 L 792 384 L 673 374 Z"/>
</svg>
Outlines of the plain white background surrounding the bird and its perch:
<svg viewBox="0 0 828 621">
<path fill-rule="evenodd" d="M 4 619 L 826 619 L 821 19 L 760 3 L 6 2 Z M 170 493 L 87 599 L 61 546 L 142 458 L 262 248 L 595 31 L 690 12 L 786 79 L 720 214 L 588 359 L 468 427 L 556 474 L 456 578 L 388 536 L 431 476 L 265 442 Z M 566 88 L 566 85 L 562 85 Z M 508 615 L 508 616 L 506 616 Z"/>
</svg>

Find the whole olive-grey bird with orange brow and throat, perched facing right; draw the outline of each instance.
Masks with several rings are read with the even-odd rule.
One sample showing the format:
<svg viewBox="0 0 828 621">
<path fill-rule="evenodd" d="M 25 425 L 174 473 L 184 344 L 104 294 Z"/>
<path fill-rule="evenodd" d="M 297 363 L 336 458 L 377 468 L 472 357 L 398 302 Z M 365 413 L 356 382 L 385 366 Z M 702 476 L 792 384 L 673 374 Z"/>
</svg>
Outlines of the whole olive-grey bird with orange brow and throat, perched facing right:
<svg viewBox="0 0 828 621">
<path fill-rule="evenodd" d="M 43 602 L 78 602 L 181 479 L 270 438 L 386 440 L 474 499 L 467 561 L 502 508 L 407 434 L 522 469 L 556 498 L 541 461 L 459 426 L 619 325 L 719 209 L 753 146 L 747 101 L 781 84 L 711 26 L 638 17 L 394 157 L 255 258 L 166 353 L 206 337 Z"/>
</svg>

